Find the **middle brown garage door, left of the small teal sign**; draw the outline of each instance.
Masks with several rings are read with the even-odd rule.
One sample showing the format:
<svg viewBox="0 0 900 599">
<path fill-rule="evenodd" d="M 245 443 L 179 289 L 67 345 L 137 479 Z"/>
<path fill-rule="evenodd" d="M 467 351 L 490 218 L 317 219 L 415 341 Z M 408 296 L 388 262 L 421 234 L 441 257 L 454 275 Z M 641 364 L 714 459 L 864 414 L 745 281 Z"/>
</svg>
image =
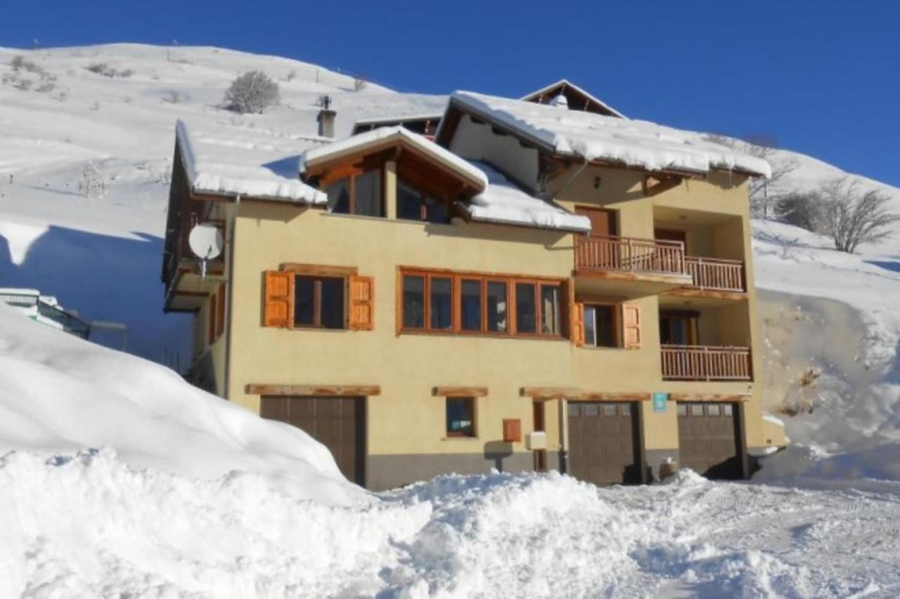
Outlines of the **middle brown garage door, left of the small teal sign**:
<svg viewBox="0 0 900 599">
<path fill-rule="evenodd" d="M 637 406 L 570 402 L 569 473 L 596 485 L 641 482 Z"/>
</svg>

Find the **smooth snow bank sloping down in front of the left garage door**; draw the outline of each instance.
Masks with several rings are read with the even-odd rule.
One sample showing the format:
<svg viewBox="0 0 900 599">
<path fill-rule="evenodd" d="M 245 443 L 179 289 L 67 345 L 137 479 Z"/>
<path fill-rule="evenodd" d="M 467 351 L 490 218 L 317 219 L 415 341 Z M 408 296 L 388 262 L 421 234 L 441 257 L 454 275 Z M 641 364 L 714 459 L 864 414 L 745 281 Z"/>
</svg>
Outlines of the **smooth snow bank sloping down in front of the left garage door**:
<svg viewBox="0 0 900 599">
<path fill-rule="evenodd" d="M 0 452 L 85 448 L 110 448 L 128 464 L 187 477 L 257 472 L 292 496 L 329 504 L 367 496 L 302 431 L 0 305 Z"/>
</svg>

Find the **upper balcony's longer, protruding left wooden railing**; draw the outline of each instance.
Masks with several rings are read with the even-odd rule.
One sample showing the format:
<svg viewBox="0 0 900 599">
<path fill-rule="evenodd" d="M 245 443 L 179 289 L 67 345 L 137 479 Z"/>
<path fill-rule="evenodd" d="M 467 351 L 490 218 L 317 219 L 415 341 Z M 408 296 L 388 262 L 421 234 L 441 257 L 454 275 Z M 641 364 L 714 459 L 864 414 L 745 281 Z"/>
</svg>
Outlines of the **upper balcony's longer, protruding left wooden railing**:
<svg viewBox="0 0 900 599">
<path fill-rule="evenodd" d="M 680 241 L 635 237 L 581 237 L 575 241 L 580 271 L 687 274 Z"/>
</svg>

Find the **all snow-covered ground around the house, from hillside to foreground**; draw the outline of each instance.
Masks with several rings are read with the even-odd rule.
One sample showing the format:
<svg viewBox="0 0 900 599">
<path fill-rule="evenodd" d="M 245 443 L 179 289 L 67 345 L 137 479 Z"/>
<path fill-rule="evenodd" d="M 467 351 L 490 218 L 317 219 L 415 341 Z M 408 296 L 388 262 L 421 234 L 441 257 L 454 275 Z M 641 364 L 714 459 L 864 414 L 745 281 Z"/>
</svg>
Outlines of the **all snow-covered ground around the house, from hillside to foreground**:
<svg viewBox="0 0 900 599">
<path fill-rule="evenodd" d="M 249 68 L 282 105 L 220 109 Z M 0 286 L 121 320 L 132 352 L 182 367 L 187 319 L 158 282 L 175 120 L 311 135 L 329 94 L 341 136 L 446 103 L 211 48 L 0 49 L 0 79 Z M 792 188 L 842 174 L 793 156 Z M 88 160 L 101 198 L 78 193 Z M 778 223 L 754 236 L 768 407 L 813 411 L 779 415 L 801 443 L 752 483 L 498 474 L 371 496 L 302 432 L 0 307 L 0 596 L 898 596 L 900 237 L 850 256 Z"/>
</svg>

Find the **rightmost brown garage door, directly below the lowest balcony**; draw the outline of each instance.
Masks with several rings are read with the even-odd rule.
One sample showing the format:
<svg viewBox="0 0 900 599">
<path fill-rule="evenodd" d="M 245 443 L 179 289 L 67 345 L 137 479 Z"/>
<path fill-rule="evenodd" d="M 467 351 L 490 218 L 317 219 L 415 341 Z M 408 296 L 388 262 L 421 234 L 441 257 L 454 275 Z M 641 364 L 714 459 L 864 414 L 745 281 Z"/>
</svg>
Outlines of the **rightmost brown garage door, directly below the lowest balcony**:
<svg viewBox="0 0 900 599">
<path fill-rule="evenodd" d="M 681 467 L 707 478 L 743 478 L 737 418 L 732 404 L 679 403 Z"/>
</svg>

